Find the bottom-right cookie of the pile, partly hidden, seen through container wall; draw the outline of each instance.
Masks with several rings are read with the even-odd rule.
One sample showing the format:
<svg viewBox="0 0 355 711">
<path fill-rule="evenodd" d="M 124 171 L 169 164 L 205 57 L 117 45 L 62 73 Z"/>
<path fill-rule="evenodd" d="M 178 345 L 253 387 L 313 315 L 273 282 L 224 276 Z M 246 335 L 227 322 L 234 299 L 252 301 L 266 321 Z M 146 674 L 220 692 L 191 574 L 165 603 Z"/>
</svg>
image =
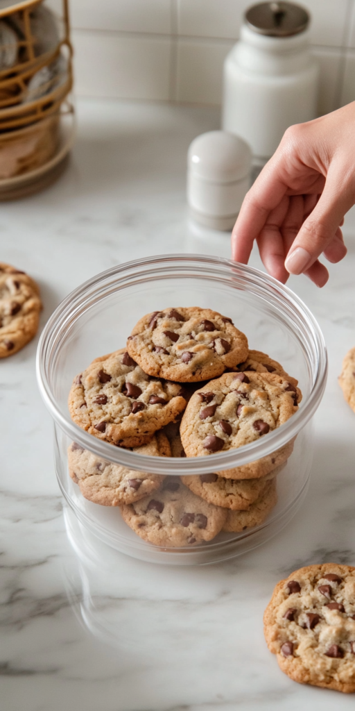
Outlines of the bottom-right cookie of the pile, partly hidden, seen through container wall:
<svg viewBox="0 0 355 711">
<path fill-rule="evenodd" d="M 246 511 L 229 510 L 222 530 L 228 533 L 241 533 L 246 528 L 260 526 L 277 503 L 278 495 L 276 492 L 276 479 L 274 478 L 266 483 L 259 498 Z"/>
</svg>

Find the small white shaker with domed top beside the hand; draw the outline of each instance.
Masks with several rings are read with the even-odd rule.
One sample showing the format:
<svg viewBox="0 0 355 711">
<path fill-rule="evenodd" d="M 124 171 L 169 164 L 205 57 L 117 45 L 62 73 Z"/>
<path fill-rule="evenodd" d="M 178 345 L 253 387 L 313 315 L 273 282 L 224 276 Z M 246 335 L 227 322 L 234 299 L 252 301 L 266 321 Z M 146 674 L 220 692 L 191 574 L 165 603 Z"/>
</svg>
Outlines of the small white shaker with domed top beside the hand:
<svg viewBox="0 0 355 711">
<path fill-rule="evenodd" d="M 190 215 L 212 230 L 231 230 L 251 185 L 251 149 L 224 131 L 197 136 L 187 154 Z"/>
</svg>

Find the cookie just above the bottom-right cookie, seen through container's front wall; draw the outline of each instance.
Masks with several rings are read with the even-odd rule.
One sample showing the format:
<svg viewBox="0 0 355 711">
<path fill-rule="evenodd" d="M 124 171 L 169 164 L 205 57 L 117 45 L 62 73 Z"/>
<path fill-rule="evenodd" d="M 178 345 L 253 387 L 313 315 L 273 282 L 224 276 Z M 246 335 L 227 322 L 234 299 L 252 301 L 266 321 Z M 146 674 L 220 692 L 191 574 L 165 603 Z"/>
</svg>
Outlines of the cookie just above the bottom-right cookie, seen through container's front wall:
<svg viewBox="0 0 355 711">
<path fill-rule="evenodd" d="M 181 481 L 197 496 L 233 511 L 248 510 L 251 505 L 268 490 L 268 483 L 277 476 L 278 469 L 261 479 L 225 479 L 218 474 L 201 476 L 181 476 Z"/>
</svg>

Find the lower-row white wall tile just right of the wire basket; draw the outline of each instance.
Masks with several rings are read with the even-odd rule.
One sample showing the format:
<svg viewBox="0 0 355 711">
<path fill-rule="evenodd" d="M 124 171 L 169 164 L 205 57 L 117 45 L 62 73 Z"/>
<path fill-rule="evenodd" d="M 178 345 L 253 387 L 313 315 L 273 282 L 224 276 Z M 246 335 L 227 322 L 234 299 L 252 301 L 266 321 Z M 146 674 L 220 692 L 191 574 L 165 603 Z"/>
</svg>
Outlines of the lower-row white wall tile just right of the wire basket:
<svg viewBox="0 0 355 711">
<path fill-rule="evenodd" d="M 168 101 L 169 38 L 73 32 L 77 94 Z"/>
</svg>

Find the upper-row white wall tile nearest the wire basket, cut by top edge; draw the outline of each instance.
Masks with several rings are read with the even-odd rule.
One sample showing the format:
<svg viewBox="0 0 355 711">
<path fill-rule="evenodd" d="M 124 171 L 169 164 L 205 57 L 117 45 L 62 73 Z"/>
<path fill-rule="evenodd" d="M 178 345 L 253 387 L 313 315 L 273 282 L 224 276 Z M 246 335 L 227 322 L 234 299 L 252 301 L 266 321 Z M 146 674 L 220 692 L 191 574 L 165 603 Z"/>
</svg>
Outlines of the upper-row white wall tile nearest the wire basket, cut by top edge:
<svg viewBox="0 0 355 711">
<path fill-rule="evenodd" d="M 170 34 L 171 0 L 70 0 L 72 27 Z"/>
</svg>

